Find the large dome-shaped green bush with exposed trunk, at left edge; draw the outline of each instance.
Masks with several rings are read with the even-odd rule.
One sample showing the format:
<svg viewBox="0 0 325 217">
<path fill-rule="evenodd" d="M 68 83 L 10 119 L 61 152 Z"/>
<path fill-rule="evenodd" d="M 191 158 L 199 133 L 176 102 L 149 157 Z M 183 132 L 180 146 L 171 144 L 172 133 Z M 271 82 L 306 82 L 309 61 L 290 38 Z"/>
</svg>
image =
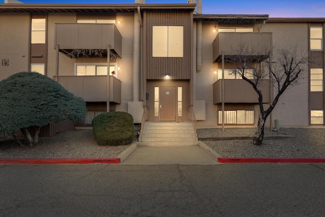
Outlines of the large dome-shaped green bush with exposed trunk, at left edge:
<svg viewBox="0 0 325 217">
<path fill-rule="evenodd" d="M 86 113 L 83 99 L 37 72 L 19 72 L 0 81 L 0 135 L 21 130 L 29 146 L 37 144 L 42 126 Z"/>
</svg>

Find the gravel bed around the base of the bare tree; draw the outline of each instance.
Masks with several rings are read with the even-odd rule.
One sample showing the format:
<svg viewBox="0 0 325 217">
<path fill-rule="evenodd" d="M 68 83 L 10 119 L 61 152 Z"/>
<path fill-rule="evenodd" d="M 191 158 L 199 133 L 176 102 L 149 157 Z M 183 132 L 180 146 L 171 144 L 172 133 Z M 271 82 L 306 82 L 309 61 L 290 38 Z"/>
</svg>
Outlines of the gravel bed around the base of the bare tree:
<svg viewBox="0 0 325 217">
<path fill-rule="evenodd" d="M 254 136 L 254 128 L 199 129 L 198 137 Z M 265 129 L 265 136 L 290 135 L 287 139 L 264 139 L 261 146 L 252 140 L 204 141 L 226 158 L 325 158 L 325 129 L 281 128 L 278 132 Z"/>
</svg>

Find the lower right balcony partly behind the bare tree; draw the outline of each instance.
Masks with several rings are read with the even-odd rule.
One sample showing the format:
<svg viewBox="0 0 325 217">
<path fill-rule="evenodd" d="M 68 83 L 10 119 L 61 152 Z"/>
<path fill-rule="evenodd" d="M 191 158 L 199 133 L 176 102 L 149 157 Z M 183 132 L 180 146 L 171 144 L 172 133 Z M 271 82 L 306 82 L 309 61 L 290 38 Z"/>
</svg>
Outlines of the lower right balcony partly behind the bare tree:
<svg viewBox="0 0 325 217">
<path fill-rule="evenodd" d="M 213 84 L 213 104 L 222 103 L 222 80 Z M 263 103 L 270 102 L 270 81 L 263 80 L 261 87 Z M 258 103 L 258 95 L 247 81 L 242 79 L 224 79 L 224 103 Z"/>
</svg>

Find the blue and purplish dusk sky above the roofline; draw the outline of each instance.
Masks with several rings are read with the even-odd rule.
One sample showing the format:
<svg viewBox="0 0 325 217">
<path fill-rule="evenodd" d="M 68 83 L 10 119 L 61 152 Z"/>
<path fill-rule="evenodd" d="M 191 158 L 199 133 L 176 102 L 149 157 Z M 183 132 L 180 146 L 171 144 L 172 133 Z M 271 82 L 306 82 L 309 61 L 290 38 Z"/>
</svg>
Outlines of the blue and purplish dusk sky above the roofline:
<svg viewBox="0 0 325 217">
<path fill-rule="evenodd" d="M 1 1 L 1 0 L 0 0 Z M 134 0 L 20 0 L 25 4 L 134 4 Z M 146 4 L 187 0 L 146 0 Z M 325 0 L 203 0 L 204 14 L 269 14 L 270 17 L 325 17 Z"/>
</svg>

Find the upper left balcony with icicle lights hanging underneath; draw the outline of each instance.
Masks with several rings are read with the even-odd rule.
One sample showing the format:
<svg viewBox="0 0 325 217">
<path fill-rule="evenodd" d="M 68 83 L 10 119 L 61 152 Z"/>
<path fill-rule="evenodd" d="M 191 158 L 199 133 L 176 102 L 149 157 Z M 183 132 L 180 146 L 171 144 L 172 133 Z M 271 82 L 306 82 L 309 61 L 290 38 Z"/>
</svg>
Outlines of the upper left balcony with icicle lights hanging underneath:
<svg viewBox="0 0 325 217">
<path fill-rule="evenodd" d="M 56 45 L 61 53 L 71 58 L 79 57 L 80 51 L 84 50 L 87 51 L 82 56 L 107 56 L 108 45 L 111 53 L 122 56 L 122 36 L 115 24 L 57 23 L 55 49 Z"/>
</svg>

